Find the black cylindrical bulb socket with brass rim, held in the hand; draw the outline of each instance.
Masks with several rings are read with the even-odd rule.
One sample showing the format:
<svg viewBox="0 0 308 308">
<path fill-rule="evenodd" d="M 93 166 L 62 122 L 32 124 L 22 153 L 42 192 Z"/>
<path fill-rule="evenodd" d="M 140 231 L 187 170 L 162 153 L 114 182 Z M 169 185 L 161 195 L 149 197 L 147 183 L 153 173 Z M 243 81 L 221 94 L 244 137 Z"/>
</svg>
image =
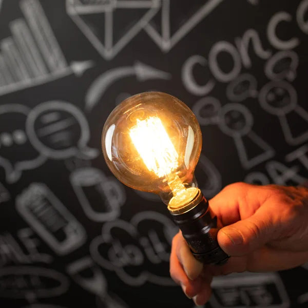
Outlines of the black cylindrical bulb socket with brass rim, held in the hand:
<svg viewBox="0 0 308 308">
<path fill-rule="evenodd" d="M 182 209 L 168 209 L 197 260 L 215 265 L 223 265 L 228 261 L 229 256 L 217 241 L 217 217 L 200 190 L 191 204 Z"/>
</svg>

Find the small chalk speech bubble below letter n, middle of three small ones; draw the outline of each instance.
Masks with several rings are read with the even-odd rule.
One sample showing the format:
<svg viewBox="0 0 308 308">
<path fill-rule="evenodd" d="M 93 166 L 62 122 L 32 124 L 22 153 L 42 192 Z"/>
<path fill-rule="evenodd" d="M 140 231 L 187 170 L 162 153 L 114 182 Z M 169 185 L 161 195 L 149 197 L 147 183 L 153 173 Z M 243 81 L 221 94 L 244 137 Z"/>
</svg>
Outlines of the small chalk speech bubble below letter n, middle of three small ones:
<svg viewBox="0 0 308 308">
<path fill-rule="evenodd" d="M 242 102 L 258 96 L 258 83 L 251 74 L 242 74 L 227 86 L 226 95 L 229 101 Z"/>
</svg>

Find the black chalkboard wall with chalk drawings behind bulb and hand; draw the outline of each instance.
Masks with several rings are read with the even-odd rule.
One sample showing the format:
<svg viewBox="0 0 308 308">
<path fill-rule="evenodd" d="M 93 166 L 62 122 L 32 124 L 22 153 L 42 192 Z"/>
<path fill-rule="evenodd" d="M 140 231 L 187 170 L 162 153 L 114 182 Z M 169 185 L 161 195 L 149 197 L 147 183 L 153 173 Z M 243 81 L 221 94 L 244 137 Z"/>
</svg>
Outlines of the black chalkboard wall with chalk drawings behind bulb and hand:
<svg viewBox="0 0 308 308">
<path fill-rule="evenodd" d="M 307 35 L 307 0 L 0 0 L 0 306 L 194 307 L 169 277 L 177 229 L 112 176 L 104 122 L 167 92 L 200 122 L 207 198 L 302 184 Z M 207 306 L 306 307 L 307 271 L 217 278 Z"/>
</svg>

